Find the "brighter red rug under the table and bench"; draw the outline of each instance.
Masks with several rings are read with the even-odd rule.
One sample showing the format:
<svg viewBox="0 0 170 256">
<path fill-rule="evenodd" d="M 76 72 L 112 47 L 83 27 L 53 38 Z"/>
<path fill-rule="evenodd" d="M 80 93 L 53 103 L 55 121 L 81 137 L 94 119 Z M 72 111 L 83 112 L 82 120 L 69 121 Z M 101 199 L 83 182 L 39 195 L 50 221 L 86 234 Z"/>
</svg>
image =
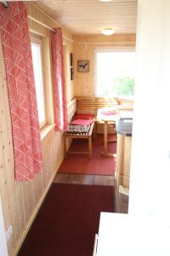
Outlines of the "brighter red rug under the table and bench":
<svg viewBox="0 0 170 256">
<path fill-rule="evenodd" d="M 111 137 L 110 137 L 111 138 Z M 98 135 L 92 143 L 92 159 L 88 155 L 68 154 L 59 166 L 58 172 L 94 175 L 113 175 L 116 171 L 116 159 L 102 156 L 103 136 Z M 116 143 L 108 144 L 109 152 L 116 153 Z M 88 140 L 75 139 L 71 144 L 71 150 L 88 151 Z"/>
</svg>

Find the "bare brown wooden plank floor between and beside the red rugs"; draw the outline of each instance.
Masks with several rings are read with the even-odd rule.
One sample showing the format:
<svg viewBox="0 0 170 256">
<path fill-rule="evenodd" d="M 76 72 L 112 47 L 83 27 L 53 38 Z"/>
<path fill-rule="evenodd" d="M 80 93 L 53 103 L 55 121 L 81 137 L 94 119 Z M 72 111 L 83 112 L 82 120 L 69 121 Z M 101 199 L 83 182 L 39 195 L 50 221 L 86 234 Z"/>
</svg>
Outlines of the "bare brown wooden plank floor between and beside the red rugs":
<svg viewBox="0 0 170 256">
<path fill-rule="evenodd" d="M 83 175 L 83 174 L 57 173 L 56 176 L 54 177 L 54 183 L 114 186 L 115 177 L 106 176 L 106 175 Z M 119 212 L 119 213 L 128 212 L 127 195 L 122 195 L 116 192 L 116 212 Z"/>
</svg>

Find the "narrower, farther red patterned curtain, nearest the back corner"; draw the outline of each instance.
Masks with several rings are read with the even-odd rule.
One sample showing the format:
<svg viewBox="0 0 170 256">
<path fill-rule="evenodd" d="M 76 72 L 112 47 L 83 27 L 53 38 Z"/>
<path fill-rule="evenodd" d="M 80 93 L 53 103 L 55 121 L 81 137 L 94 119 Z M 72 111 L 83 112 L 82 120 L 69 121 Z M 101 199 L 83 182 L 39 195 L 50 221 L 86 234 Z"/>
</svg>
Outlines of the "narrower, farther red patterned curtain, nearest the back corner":
<svg viewBox="0 0 170 256">
<path fill-rule="evenodd" d="M 52 56 L 54 74 L 54 120 L 55 131 L 65 131 L 68 125 L 66 106 L 65 73 L 63 62 L 63 42 L 61 28 L 52 33 Z"/>
</svg>

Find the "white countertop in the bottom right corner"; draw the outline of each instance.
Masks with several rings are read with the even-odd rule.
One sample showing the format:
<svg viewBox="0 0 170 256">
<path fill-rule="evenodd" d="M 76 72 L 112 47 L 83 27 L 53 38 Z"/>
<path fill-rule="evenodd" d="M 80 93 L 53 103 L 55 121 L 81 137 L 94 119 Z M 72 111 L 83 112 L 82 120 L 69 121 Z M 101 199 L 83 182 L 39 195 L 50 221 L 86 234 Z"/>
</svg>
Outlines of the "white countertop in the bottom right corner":
<svg viewBox="0 0 170 256">
<path fill-rule="evenodd" d="M 170 256 L 170 225 L 101 212 L 97 256 Z"/>
</svg>

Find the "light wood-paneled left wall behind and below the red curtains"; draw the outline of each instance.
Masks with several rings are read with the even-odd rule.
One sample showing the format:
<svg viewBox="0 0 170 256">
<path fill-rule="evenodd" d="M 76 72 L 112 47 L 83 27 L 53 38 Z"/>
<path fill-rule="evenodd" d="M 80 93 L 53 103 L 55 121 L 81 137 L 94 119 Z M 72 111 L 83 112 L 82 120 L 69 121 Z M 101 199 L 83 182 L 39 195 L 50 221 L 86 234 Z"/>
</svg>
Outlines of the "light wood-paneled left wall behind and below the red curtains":
<svg viewBox="0 0 170 256">
<path fill-rule="evenodd" d="M 41 13 L 31 4 L 28 4 L 28 14 L 38 20 L 42 20 L 48 26 L 58 26 L 58 24 L 54 23 L 54 20 L 50 20 L 47 15 Z M 49 37 L 50 32 L 48 29 L 38 25 L 35 21 L 29 20 L 29 26 L 31 32 L 36 32 L 44 38 Z M 70 37 L 69 33 L 66 35 Z M 65 41 L 64 43 L 71 49 L 70 41 Z M 71 84 L 67 84 L 67 90 L 70 86 Z M 69 90 L 71 91 L 70 88 Z M 71 92 L 68 101 L 71 100 L 72 96 Z M 71 109 L 70 114 L 73 111 L 72 105 Z M 33 181 L 17 182 L 14 180 L 14 153 L 8 107 L 8 89 L 2 44 L 0 44 L 0 196 L 3 205 L 5 230 L 8 230 L 10 225 L 13 226 L 13 235 L 8 240 L 9 256 L 17 254 L 26 232 L 29 230 L 31 222 L 63 160 L 62 133 L 54 132 L 54 125 L 48 126 L 48 133 L 42 138 L 42 157 L 42 173 L 37 174 Z"/>
</svg>

